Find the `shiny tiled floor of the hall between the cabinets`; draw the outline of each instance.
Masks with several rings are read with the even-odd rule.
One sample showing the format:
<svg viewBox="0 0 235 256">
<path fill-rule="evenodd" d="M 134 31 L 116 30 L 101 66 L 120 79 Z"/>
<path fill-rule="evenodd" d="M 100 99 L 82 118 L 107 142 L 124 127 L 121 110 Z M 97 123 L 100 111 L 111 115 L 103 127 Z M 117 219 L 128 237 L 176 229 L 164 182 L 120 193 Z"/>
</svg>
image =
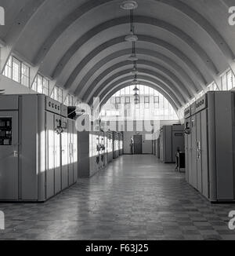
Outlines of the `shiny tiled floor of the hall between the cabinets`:
<svg viewBox="0 0 235 256">
<path fill-rule="evenodd" d="M 45 204 L 0 210 L 2 240 L 235 240 L 235 205 L 212 205 L 152 155 L 125 155 Z"/>
</svg>

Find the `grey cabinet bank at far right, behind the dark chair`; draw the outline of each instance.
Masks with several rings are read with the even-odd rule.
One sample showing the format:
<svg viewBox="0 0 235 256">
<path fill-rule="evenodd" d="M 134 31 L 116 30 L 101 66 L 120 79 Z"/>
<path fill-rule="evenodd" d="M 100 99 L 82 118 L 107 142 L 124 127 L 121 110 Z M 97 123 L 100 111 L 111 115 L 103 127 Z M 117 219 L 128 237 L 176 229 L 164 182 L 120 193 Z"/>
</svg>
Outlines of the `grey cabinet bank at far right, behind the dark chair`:
<svg viewBox="0 0 235 256">
<path fill-rule="evenodd" d="M 184 152 L 184 126 L 162 126 L 160 137 L 160 159 L 163 163 L 175 163 L 175 153 Z M 158 154 L 158 153 L 157 153 Z"/>
</svg>

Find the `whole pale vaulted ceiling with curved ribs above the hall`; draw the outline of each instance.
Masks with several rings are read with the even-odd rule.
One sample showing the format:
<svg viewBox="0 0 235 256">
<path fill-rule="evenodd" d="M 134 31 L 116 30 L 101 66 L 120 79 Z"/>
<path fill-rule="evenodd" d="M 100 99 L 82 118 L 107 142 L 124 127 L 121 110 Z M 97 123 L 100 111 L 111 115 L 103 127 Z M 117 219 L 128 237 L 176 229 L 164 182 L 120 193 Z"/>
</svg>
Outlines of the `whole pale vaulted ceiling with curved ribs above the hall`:
<svg viewBox="0 0 235 256">
<path fill-rule="evenodd" d="M 13 51 L 91 104 L 132 81 L 129 12 L 121 0 L 0 0 L 2 67 Z M 179 109 L 227 68 L 235 72 L 233 0 L 137 0 L 139 80 Z M 2 71 L 2 70 L 1 70 Z"/>
</svg>

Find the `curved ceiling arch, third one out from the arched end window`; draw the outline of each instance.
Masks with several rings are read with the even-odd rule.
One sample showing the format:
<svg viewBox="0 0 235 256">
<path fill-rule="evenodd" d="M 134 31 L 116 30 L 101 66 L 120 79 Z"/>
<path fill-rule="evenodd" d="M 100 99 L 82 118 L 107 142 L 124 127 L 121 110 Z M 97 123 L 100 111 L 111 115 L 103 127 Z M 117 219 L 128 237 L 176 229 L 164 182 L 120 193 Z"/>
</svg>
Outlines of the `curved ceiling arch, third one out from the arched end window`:
<svg viewBox="0 0 235 256">
<path fill-rule="evenodd" d="M 177 76 L 175 76 L 172 72 L 169 72 L 166 68 L 164 68 L 163 66 L 156 64 L 153 61 L 149 61 L 149 60 L 139 60 L 138 61 L 138 65 L 139 68 L 138 70 L 141 72 L 142 68 L 144 69 L 148 69 L 150 68 L 150 70 L 152 69 L 156 69 L 156 71 L 161 71 L 165 74 L 168 74 L 169 78 L 171 78 L 172 80 L 174 80 L 176 82 L 177 85 L 180 85 L 181 79 L 179 79 Z M 120 62 L 118 64 L 115 64 L 114 66 L 110 67 L 107 69 L 107 71 L 105 71 L 105 75 L 102 75 L 101 78 L 97 78 L 96 83 L 93 82 L 92 86 L 89 86 L 88 90 L 86 90 L 85 95 L 79 94 L 78 97 L 82 98 L 84 101 L 89 101 L 89 97 L 92 96 L 94 93 L 96 93 L 97 90 L 99 90 L 99 82 L 100 80 L 104 79 L 107 77 L 107 75 L 109 75 L 110 73 L 113 73 L 113 71 L 119 71 L 119 68 L 125 68 L 125 71 L 128 73 L 128 71 L 131 71 L 132 69 L 132 64 L 130 64 L 130 62 L 128 60 Z M 99 82 L 98 82 L 99 79 Z M 190 93 L 186 93 L 186 89 L 183 88 L 181 89 L 180 87 L 178 87 L 179 93 L 181 93 L 184 97 L 192 97 L 193 95 L 190 95 Z M 176 91 L 175 91 L 176 93 Z"/>
</svg>

